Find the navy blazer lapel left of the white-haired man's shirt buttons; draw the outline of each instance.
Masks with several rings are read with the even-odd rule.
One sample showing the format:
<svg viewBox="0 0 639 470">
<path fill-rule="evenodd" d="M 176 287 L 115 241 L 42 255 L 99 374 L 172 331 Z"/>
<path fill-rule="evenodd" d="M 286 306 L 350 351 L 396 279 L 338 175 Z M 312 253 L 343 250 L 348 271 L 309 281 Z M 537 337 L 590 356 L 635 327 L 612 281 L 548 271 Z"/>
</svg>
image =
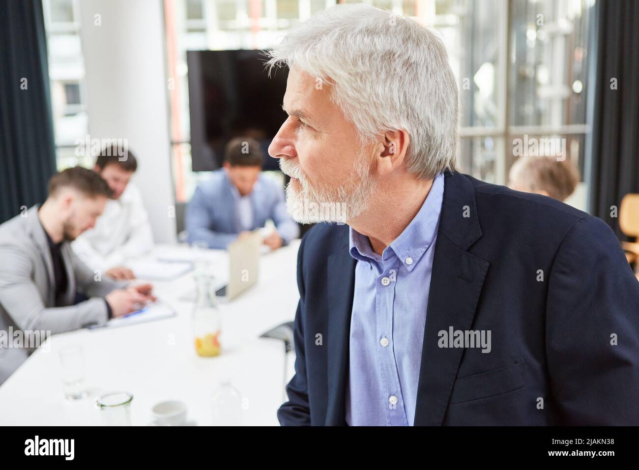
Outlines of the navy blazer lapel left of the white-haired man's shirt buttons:
<svg viewBox="0 0 639 470">
<path fill-rule="evenodd" d="M 348 243 L 328 258 L 328 403 L 326 425 L 346 425 L 344 393 L 348 380 L 351 311 L 355 292 L 356 260 Z"/>
</svg>

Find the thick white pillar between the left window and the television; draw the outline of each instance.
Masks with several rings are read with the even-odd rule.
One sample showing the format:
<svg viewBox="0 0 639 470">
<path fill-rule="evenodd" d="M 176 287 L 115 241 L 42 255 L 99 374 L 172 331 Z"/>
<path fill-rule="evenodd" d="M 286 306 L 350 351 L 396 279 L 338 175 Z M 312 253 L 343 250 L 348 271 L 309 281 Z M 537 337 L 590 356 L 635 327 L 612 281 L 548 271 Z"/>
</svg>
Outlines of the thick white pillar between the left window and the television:
<svg viewBox="0 0 639 470">
<path fill-rule="evenodd" d="M 127 139 L 155 242 L 175 242 L 162 1 L 79 4 L 91 139 Z"/>
</svg>

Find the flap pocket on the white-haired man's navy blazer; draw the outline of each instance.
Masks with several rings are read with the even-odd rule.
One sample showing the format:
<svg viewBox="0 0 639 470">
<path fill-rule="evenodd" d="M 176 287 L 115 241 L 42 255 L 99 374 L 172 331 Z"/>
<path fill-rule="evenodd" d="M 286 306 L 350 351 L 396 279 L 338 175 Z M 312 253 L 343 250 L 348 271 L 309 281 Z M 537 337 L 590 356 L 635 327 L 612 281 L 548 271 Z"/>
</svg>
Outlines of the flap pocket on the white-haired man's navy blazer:
<svg viewBox="0 0 639 470">
<path fill-rule="evenodd" d="M 449 404 L 503 395 L 524 385 L 524 362 L 456 379 Z"/>
</svg>

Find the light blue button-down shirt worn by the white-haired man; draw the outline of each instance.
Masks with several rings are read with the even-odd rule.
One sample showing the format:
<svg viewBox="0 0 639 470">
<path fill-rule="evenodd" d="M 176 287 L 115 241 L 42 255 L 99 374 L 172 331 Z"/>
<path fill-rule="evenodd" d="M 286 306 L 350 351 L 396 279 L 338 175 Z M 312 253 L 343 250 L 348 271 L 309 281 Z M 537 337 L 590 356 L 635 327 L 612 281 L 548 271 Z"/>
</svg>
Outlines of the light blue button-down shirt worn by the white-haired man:
<svg viewBox="0 0 639 470">
<path fill-rule="evenodd" d="M 350 329 L 346 423 L 412 426 L 422 359 L 443 175 L 404 231 L 377 255 L 350 229 L 355 296 Z"/>
</svg>

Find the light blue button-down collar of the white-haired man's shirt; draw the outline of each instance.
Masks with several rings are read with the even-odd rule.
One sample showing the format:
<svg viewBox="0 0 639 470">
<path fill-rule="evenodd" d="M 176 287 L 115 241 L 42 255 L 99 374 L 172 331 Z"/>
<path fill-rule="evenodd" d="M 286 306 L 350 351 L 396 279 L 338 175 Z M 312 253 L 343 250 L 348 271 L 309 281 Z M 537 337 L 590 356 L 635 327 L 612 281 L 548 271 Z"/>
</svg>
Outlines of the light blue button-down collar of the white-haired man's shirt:
<svg viewBox="0 0 639 470">
<path fill-rule="evenodd" d="M 349 230 L 349 252 L 356 260 L 385 262 L 397 256 L 408 272 L 411 272 L 426 250 L 431 246 L 437 234 L 443 200 L 443 175 L 436 176 L 431 190 L 417 215 L 404 228 L 382 255 L 377 255 L 371 248 L 366 235 L 358 233 L 352 227 Z"/>
</svg>

